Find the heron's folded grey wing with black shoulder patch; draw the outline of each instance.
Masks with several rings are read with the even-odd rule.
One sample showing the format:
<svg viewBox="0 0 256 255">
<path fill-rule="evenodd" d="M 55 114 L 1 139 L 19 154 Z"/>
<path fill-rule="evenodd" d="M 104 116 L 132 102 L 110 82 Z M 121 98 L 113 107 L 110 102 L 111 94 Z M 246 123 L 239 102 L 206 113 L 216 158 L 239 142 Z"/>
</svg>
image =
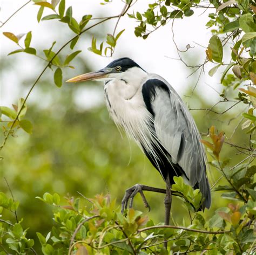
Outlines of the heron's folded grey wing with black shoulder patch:
<svg viewBox="0 0 256 255">
<path fill-rule="evenodd" d="M 206 156 L 194 120 L 176 91 L 163 78 L 152 77 L 143 86 L 151 91 L 147 108 L 154 118 L 158 141 L 170 153 L 172 162 L 183 169 L 192 187 L 198 187 L 210 207 L 210 187 L 206 177 Z M 161 80 L 160 80 L 160 79 Z"/>
</svg>

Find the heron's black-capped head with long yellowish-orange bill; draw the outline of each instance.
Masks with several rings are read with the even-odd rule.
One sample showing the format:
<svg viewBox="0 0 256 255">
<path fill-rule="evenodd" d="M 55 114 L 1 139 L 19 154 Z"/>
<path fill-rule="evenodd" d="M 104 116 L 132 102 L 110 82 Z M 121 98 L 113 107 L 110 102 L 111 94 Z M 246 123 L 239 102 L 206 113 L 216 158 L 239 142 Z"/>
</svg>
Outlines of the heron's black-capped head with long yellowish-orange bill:
<svg viewBox="0 0 256 255">
<path fill-rule="evenodd" d="M 111 79 L 123 79 L 128 72 L 139 70 L 145 72 L 136 62 L 130 58 L 119 58 L 112 61 L 106 67 L 96 71 L 78 75 L 67 82 L 81 82 L 87 80 L 107 81 Z"/>
</svg>

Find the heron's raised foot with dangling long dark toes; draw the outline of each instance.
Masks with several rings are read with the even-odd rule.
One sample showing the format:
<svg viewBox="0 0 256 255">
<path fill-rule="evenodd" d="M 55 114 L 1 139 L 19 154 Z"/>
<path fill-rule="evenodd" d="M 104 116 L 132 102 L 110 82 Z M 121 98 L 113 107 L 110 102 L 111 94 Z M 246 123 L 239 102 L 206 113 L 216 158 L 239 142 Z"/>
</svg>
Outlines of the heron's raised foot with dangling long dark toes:
<svg viewBox="0 0 256 255">
<path fill-rule="evenodd" d="M 146 197 L 143 193 L 143 187 L 144 187 L 144 185 L 142 185 L 142 184 L 135 184 L 134 186 L 132 186 L 131 188 L 129 188 L 125 191 L 125 194 L 124 194 L 124 197 L 123 197 L 123 200 L 122 200 L 122 210 L 121 210 L 122 213 L 124 213 L 124 210 L 127 209 L 129 199 L 130 199 L 129 208 L 132 208 L 133 198 L 137 193 L 140 194 L 145 207 L 149 208 L 149 211 L 150 211 L 150 205 L 147 202 L 147 199 L 146 199 Z"/>
</svg>

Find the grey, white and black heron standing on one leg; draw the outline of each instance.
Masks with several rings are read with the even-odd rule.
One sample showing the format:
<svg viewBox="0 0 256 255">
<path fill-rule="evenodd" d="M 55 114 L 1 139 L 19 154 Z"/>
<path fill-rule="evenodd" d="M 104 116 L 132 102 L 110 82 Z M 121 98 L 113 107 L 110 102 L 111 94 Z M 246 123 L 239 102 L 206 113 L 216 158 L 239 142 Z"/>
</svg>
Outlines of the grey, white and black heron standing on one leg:
<svg viewBox="0 0 256 255">
<path fill-rule="evenodd" d="M 146 72 L 127 57 L 68 82 L 89 80 L 104 81 L 106 106 L 112 120 L 137 142 L 166 183 L 166 189 L 142 184 L 127 189 L 122 212 L 128 205 L 132 207 L 133 198 L 138 193 L 147 208 L 150 206 L 143 191 L 165 193 L 165 224 L 169 225 L 174 176 L 182 176 L 194 189 L 199 189 L 203 197 L 201 209 L 210 208 L 206 154 L 200 133 L 183 100 L 169 82 Z"/>
</svg>

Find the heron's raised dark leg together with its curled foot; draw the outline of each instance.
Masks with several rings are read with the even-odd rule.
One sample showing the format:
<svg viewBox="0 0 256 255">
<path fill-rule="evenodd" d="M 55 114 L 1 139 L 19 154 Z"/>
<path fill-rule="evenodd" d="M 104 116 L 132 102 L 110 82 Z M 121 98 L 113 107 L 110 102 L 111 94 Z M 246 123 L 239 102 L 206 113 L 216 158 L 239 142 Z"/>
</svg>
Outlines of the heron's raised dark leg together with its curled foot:
<svg viewBox="0 0 256 255">
<path fill-rule="evenodd" d="M 135 184 L 134 186 L 132 186 L 131 188 L 129 188 L 125 191 L 125 195 L 122 200 L 122 213 L 124 212 L 125 209 L 127 209 L 129 199 L 130 199 L 129 207 L 132 208 L 133 198 L 137 193 L 139 193 L 140 196 L 142 196 L 142 200 L 143 200 L 145 207 L 149 208 L 149 210 L 150 210 L 150 205 L 147 202 L 143 191 L 153 191 L 153 192 L 166 194 L 165 189 L 154 188 L 154 187 L 150 187 L 150 186 L 146 186 L 146 185 L 142 185 L 142 184 Z"/>
</svg>

